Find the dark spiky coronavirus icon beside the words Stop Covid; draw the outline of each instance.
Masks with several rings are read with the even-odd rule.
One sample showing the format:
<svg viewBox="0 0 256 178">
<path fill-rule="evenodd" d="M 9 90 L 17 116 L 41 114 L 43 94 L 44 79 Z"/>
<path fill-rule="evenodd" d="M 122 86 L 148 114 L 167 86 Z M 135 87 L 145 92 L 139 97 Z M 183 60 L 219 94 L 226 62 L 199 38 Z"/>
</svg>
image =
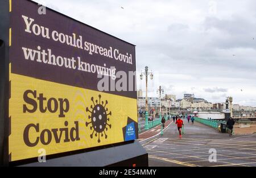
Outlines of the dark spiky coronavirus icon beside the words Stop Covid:
<svg viewBox="0 0 256 178">
<path fill-rule="evenodd" d="M 90 126 L 90 130 L 93 129 L 92 134 L 90 134 L 90 138 L 93 138 L 93 135 L 98 136 L 98 143 L 101 142 L 100 140 L 100 136 L 104 136 L 105 135 L 105 139 L 108 138 L 108 135 L 106 135 L 105 130 L 108 131 L 108 126 L 109 129 L 111 129 L 111 124 L 109 124 L 109 115 L 112 115 L 111 111 L 108 112 L 108 107 L 106 107 L 106 105 L 108 104 L 108 101 L 105 101 L 105 105 L 104 105 L 104 101 L 101 101 L 101 95 L 98 96 L 99 101 L 96 100 L 94 102 L 93 97 L 91 98 L 93 105 L 90 106 L 89 110 L 88 107 L 86 107 L 86 112 L 89 112 L 89 119 L 90 122 L 86 122 L 85 125 L 86 127 L 90 124 L 92 124 L 92 126 Z M 94 134 L 95 132 L 95 134 Z"/>
</svg>

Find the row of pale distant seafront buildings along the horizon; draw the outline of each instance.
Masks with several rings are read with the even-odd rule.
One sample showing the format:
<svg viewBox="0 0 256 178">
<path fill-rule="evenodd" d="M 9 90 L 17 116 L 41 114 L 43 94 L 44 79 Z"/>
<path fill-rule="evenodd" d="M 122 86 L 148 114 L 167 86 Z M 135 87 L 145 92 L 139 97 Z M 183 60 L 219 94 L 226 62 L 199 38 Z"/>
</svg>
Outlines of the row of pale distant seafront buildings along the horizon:
<svg viewBox="0 0 256 178">
<path fill-rule="evenodd" d="M 143 113 L 146 108 L 146 98 L 143 97 L 142 90 L 137 92 L 137 97 L 138 112 Z M 223 112 L 226 109 L 225 102 L 212 104 L 204 98 L 196 98 L 195 94 L 186 93 L 182 99 L 177 99 L 174 94 L 166 94 L 161 99 L 158 97 L 148 97 L 148 110 L 150 113 L 157 115 L 160 106 L 162 114 L 193 110 Z M 256 115 L 256 107 L 233 104 L 232 109 L 233 117 L 254 117 Z"/>
</svg>

